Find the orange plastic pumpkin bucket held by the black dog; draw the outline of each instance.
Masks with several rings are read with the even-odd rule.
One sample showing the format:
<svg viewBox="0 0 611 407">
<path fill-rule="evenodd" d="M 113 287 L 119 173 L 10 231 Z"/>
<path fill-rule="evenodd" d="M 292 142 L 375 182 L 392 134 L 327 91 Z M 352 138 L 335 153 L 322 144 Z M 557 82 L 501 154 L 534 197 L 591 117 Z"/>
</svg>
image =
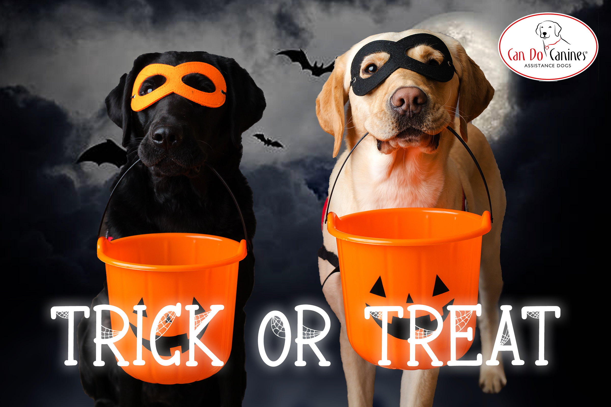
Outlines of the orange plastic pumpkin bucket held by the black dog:
<svg viewBox="0 0 611 407">
<path fill-rule="evenodd" d="M 128 366 L 129 375 L 150 383 L 191 383 L 205 379 L 221 369 L 232 348 L 233 314 L 238 281 L 238 262 L 246 257 L 246 240 L 240 243 L 224 237 L 194 233 L 159 233 L 123 237 L 108 241 L 98 239 L 98 258 L 106 263 L 108 298 L 112 306 L 127 315 L 130 329 L 114 343 Z M 178 312 L 166 306 L 180 303 Z M 134 306 L 144 304 L 142 311 L 141 359 L 137 359 L 137 313 Z M 196 311 L 185 306 L 197 304 Z M 219 305 L 222 309 L 218 310 Z M 189 366 L 190 312 L 195 327 L 216 306 L 216 314 L 197 337 L 219 359 L 213 360 L 194 345 L 197 366 Z M 158 320 L 155 316 L 158 315 Z M 112 331 L 123 328 L 123 319 L 111 312 Z M 158 357 L 167 360 L 180 351 L 180 363 L 162 366 L 151 350 L 152 328 Z M 139 358 L 138 358 L 139 359 Z M 222 362 L 222 363 L 221 363 Z M 216 366 L 215 366 L 216 365 Z"/>
</svg>

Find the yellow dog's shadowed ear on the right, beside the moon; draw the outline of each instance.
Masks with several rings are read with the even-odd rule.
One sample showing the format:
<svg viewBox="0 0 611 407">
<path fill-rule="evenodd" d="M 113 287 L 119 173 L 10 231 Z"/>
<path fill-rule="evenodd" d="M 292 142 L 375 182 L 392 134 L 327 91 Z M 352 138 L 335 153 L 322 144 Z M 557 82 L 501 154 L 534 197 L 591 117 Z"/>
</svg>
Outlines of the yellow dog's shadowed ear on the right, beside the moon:
<svg viewBox="0 0 611 407">
<path fill-rule="evenodd" d="M 494 88 L 477 63 L 458 45 L 458 59 L 461 63 L 462 74 L 459 76 L 460 89 L 458 111 L 460 113 L 460 134 L 467 141 L 467 123 L 478 117 L 488 107 L 494 96 Z"/>
</svg>

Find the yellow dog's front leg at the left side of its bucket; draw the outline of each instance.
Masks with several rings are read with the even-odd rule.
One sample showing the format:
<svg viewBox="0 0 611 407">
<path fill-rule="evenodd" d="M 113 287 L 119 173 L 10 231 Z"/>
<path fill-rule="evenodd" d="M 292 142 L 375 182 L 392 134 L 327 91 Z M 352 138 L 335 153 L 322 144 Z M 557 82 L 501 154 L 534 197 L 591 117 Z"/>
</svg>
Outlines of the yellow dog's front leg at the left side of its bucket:
<svg viewBox="0 0 611 407">
<path fill-rule="evenodd" d="M 320 273 L 321 284 L 333 270 L 334 267 L 328 261 L 321 258 L 318 259 L 318 271 Z M 371 405 L 373 405 L 373 387 L 376 378 L 376 367 L 357 355 L 348 340 L 340 273 L 334 273 L 329 276 L 327 282 L 324 283 L 323 294 L 342 325 L 340 330 L 340 351 L 344 375 L 346 376 L 346 386 L 348 387 L 348 406 L 371 407 Z"/>
</svg>

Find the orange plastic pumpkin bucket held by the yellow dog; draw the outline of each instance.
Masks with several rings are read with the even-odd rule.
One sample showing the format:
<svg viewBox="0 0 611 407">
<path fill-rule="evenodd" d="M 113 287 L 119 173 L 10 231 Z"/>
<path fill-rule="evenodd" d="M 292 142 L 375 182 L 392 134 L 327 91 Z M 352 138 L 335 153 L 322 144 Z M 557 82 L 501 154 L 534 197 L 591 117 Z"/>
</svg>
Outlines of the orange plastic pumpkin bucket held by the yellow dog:
<svg viewBox="0 0 611 407">
<path fill-rule="evenodd" d="M 476 305 L 480 274 L 481 236 L 491 229 L 490 214 L 434 208 L 395 208 L 357 212 L 338 217 L 330 212 L 329 233 L 337 238 L 346 330 L 350 344 L 362 358 L 378 364 L 382 348 L 381 312 L 364 315 L 367 306 L 399 306 L 387 313 L 387 359 L 390 369 L 432 369 L 433 359 L 420 344 L 408 342 L 412 329 L 417 338 L 437 330 L 431 312 L 415 311 L 412 304 L 439 312 L 443 329 L 428 342 L 443 364 L 450 360 L 448 305 Z M 456 332 L 475 330 L 475 311 L 456 311 Z M 368 318 L 365 318 L 367 316 Z M 456 358 L 472 341 L 456 340 Z M 417 366 L 409 366 L 415 346 Z"/>
</svg>

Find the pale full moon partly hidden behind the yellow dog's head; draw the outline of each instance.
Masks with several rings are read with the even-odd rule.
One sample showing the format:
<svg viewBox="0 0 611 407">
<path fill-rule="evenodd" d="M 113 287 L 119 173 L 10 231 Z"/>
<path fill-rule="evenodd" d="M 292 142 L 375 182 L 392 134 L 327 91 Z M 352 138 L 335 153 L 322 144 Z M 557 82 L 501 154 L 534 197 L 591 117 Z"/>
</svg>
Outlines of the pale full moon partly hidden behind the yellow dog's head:
<svg viewBox="0 0 611 407">
<path fill-rule="evenodd" d="M 428 18 L 414 28 L 441 32 L 463 45 L 467 55 L 480 66 L 494 88 L 494 98 L 473 124 L 486 135 L 488 141 L 503 135 L 502 125 L 515 107 L 510 100 L 510 71 L 499 57 L 499 39 L 485 22 L 474 13 L 447 13 Z"/>
</svg>

